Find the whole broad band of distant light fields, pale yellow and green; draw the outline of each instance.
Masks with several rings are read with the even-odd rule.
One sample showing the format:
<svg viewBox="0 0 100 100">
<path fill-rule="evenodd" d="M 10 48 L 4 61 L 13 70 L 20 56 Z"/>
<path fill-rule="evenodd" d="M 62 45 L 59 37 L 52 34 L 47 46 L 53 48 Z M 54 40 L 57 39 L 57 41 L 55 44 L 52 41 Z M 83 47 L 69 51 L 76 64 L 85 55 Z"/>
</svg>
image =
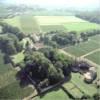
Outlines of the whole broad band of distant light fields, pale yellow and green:
<svg viewBox="0 0 100 100">
<path fill-rule="evenodd" d="M 32 16 L 21 15 L 4 19 L 4 22 L 18 27 L 24 33 L 49 31 L 87 31 L 100 29 L 100 25 L 90 23 L 75 16 Z"/>
</svg>

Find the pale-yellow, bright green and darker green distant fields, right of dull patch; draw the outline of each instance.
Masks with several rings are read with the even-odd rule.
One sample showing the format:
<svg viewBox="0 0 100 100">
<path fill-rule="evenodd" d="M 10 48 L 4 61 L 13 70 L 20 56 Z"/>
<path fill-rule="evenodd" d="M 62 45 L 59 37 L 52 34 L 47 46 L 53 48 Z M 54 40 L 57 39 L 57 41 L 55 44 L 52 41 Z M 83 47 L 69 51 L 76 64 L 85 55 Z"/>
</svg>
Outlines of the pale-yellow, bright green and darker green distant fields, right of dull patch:
<svg viewBox="0 0 100 100">
<path fill-rule="evenodd" d="M 90 23 L 75 16 L 35 16 L 43 31 L 87 31 L 100 29 L 100 25 Z"/>
</svg>

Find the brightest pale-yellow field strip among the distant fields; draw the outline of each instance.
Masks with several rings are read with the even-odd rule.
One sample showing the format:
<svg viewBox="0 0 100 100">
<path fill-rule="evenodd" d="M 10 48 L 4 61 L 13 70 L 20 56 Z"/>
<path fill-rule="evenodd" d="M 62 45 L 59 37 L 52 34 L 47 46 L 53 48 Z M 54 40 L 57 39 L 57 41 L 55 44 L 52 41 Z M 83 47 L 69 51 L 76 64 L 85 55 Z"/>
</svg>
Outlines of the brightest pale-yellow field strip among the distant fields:
<svg viewBox="0 0 100 100">
<path fill-rule="evenodd" d="M 86 22 L 75 16 L 35 16 L 39 25 L 62 25 L 72 22 Z"/>
</svg>

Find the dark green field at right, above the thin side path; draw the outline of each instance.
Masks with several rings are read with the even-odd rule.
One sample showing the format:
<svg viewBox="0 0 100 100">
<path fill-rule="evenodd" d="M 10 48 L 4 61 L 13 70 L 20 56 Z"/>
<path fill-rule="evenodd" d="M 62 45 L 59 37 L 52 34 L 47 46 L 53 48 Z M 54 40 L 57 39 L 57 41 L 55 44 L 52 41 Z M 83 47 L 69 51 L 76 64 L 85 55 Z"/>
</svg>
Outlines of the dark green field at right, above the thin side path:
<svg viewBox="0 0 100 100">
<path fill-rule="evenodd" d="M 98 48 L 100 48 L 100 35 L 93 36 L 87 42 L 83 42 L 75 46 L 66 47 L 65 50 L 72 55 L 80 57 Z"/>
</svg>

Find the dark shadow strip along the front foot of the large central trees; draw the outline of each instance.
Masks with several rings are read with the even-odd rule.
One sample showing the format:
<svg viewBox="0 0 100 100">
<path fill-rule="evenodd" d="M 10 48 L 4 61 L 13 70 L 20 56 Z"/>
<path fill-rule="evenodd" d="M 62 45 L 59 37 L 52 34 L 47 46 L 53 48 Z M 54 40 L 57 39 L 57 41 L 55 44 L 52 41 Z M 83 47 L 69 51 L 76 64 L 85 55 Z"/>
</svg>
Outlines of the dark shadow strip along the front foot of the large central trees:
<svg viewBox="0 0 100 100">
<path fill-rule="evenodd" d="M 27 87 L 30 84 L 33 85 L 38 92 L 38 96 L 40 96 L 40 98 L 43 98 L 47 93 L 50 93 L 52 91 L 58 91 L 61 88 L 62 84 L 70 81 L 71 74 L 69 76 L 66 76 L 60 82 L 53 85 L 49 84 L 48 86 L 45 86 L 43 88 L 39 88 L 37 80 L 35 80 L 35 78 L 30 77 L 24 69 L 21 69 L 19 72 L 17 72 L 16 79 L 20 81 L 20 87 L 22 88 Z"/>
</svg>

